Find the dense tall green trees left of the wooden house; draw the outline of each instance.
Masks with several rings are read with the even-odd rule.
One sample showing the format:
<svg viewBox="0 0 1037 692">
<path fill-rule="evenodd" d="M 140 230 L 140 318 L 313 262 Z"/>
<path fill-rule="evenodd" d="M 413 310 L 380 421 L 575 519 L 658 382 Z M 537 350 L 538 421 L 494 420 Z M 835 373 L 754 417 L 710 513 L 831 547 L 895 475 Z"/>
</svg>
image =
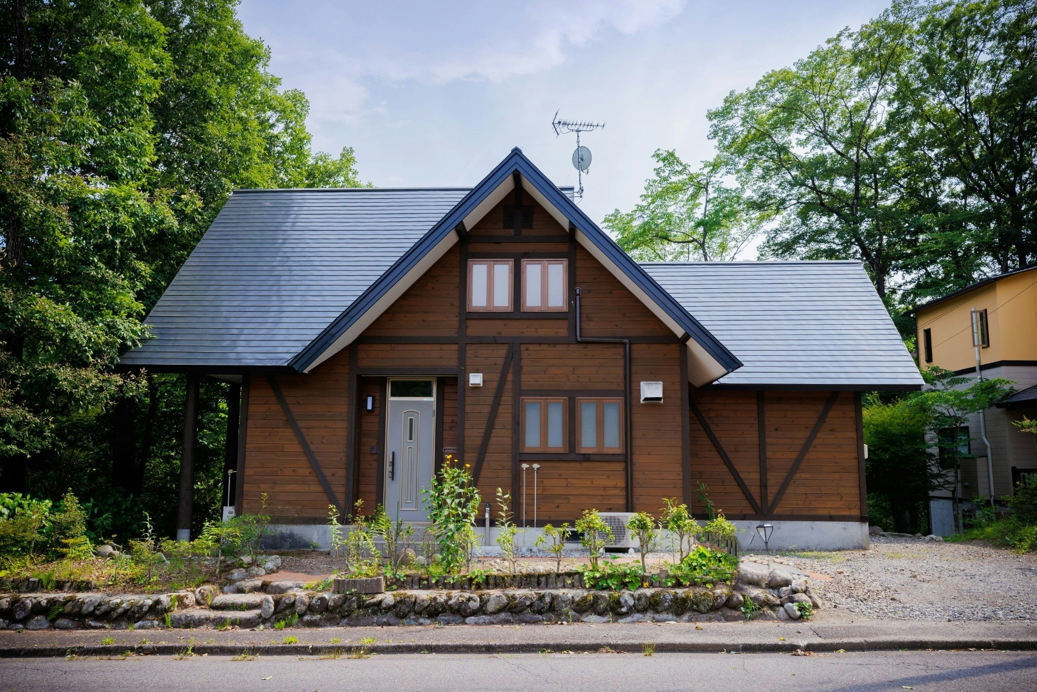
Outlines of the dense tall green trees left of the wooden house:
<svg viewBox="0 0 1037 692">
<path fill-rule="evenodd" d="M 359 184 L 352 150 L 312 151 L 305 96 L 235 5 L 0 0 L 0 489 L 175 478 L 183 378 L 118 354 L 232 189 Z M 225 388 L 203 387 L 214 458 Z"/>
</svg>

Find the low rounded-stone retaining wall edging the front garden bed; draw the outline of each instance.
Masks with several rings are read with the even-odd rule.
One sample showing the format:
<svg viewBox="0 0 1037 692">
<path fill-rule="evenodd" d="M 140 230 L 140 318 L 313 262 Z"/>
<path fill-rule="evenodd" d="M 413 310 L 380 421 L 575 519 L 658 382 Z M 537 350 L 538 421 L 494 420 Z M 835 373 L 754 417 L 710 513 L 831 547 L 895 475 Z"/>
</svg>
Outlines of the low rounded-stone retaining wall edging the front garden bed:
<svg viewBox="0 0 1037 692">
<path fill-rule="evenodd" d="M 746 615 L 795 619 L 796 603 L 820 607 L 806 580 L 742 563 L 734 587 L 400 590 L 373 596 L 306 591 L 274 582 L 268 592 L 220 593 L 214 586 L 156 596 L 0 594 L 0 629 L 72 630 L 287 626 L 501 625 L 551 621 L 724 621 Z"/>
</svg>

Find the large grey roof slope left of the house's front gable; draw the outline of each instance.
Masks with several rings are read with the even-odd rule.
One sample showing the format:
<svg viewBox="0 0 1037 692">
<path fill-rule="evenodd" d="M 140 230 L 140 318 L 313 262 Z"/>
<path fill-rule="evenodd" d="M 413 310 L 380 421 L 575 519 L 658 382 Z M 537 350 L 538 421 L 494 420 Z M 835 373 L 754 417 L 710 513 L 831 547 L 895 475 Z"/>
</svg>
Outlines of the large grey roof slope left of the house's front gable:
<svg viewBox="0 0 1037 692">
<path fill-rule="evenodd" d="M 120 365 L 287 365 L 468 192 L 234 192 Z"/>
</svg>

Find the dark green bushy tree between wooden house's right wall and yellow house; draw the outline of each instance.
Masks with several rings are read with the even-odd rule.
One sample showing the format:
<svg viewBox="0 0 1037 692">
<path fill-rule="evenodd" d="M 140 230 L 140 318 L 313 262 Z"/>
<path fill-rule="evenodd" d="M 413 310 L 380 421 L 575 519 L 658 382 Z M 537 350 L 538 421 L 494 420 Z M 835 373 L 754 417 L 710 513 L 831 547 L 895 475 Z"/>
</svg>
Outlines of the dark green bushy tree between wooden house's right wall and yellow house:
<svg viewBox="0 0 1037 692">
<path fill-rule="evenodd" d="M 884 528 L 916 533 L 921 530 L 929 493 L 943 487 L 926 440 L 929 412 L 915 396 L 884 402 L 870 395 L 865 399 L 863 422 L 869 496 L 889 503 L 893 522 Z"/>
</svg>

